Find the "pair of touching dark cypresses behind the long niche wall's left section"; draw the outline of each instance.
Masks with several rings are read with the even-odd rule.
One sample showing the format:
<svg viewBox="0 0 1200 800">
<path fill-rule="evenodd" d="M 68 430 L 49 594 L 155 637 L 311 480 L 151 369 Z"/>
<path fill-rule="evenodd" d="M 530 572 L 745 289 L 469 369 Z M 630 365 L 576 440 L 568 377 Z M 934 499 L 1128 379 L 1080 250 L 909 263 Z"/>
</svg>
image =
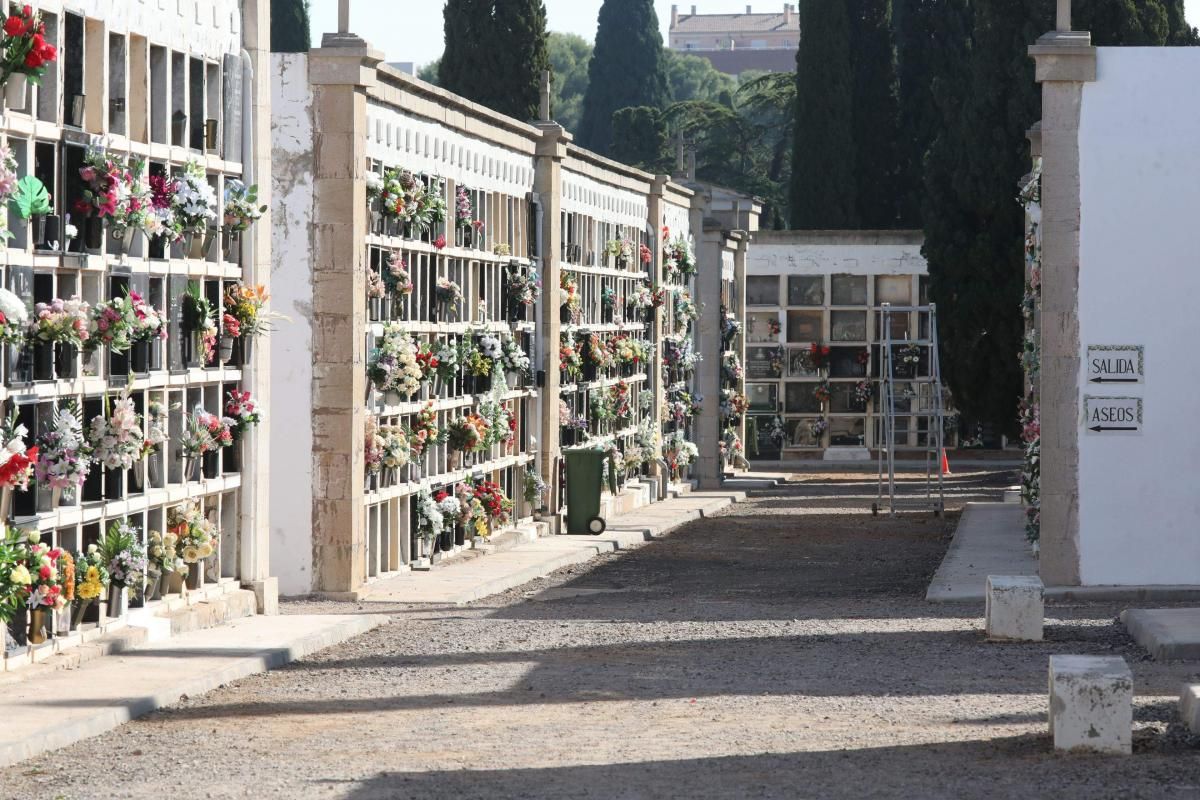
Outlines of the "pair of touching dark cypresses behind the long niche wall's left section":
<svg viewBox="0 0 1200 800">
<path fill-rule="evenodd" d="M 542 0 L 448 0 L 438 85 L 502 114 L 534 119 L 546 52 Z"/>
</svg>

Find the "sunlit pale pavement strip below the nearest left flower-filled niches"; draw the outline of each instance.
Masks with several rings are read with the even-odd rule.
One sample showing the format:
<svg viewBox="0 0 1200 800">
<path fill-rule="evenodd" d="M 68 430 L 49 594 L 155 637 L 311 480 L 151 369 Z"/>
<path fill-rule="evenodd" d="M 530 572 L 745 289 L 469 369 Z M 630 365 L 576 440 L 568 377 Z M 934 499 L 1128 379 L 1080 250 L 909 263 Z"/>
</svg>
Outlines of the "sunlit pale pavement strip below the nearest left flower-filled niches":
<svg viewBox="0 0 1200 800">
<path fill-rule="evenodd" d="M 112 730 L 184 694 L 280 667 L 365 633 L 379 615 L 252 616 L 6 686 L 0 766 Z"/>
</svg>

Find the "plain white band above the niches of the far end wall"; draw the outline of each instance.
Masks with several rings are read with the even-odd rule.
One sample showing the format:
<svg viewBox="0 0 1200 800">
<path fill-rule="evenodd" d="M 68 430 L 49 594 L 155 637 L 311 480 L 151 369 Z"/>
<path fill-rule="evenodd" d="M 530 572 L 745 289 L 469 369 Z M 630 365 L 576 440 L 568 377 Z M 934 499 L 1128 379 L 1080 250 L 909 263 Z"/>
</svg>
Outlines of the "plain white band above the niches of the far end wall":
<svg viewBox="0 0 1200 800">
<path fill-rule="evenodd" d="M 746 275 L 925 275 L 918 234 L 758 231 Z"/>
</svg>

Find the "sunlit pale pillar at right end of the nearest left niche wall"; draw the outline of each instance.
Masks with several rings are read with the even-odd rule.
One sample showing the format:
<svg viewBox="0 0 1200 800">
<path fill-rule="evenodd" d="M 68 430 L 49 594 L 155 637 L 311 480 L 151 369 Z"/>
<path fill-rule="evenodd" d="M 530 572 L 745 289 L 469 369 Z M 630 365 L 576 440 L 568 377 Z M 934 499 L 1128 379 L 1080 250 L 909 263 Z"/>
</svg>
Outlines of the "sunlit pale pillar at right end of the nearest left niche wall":
<svg viewBox="0 0 1200 800">
<path fill-rule="evenodd" d="M 244 234 L 244 279 L 262 284 L 270 293 L 271 285 L 271 25 L 270 1 L 252 0 L 242 4 L 242 48 L 250 55 L 253 80 L 242 91 L 248 94 L 251 107 L 250 163 L 244 163 L 247 182 L 257 184 L 258 200 L 266 205 L 263 217 Z M 242 368 L 242 384 L 260 408 L 271 408 L 271 372 L 269 348 L 254 348 L 248 367 Z M 259 614 L 278 612 L 280 587 L 270 577 L 270 446 L 271 415 L 248 434 L 242 447 L 241 507 L 239 523 L 239 575 L 242 584 L 254 591 Z"/>
</svg>

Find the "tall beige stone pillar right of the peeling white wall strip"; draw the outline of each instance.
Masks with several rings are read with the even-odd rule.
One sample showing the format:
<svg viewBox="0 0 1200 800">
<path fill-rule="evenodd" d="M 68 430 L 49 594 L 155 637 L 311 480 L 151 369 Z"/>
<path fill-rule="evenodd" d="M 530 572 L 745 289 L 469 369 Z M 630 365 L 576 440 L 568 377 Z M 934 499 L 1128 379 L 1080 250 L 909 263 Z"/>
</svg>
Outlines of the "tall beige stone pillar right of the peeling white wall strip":
<svg viewBox="0 0 1200 800">
<path fill-rule="evenodd" d="M 310 53 L 313 90 L 312 564 L 313 588 L 338 595 L 366 579 L 367 88 L 382 56 L 354 36 Z"/>
</svg>

